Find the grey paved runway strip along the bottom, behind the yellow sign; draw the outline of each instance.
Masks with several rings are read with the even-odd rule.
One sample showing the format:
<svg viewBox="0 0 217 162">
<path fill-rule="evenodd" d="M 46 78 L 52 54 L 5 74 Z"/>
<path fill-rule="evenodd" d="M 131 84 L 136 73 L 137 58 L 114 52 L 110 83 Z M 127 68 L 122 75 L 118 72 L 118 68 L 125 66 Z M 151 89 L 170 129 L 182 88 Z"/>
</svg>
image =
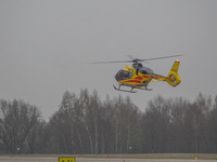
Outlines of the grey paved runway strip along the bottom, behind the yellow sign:
<svg viewBox="0 0 217 162">
<path fill-rule="evenodd" d="M 0 162 L 58 162 L 58 158 L 0 157 Z M 94 159 L 77 158 L 76 162 L 217 162 L 217 160 L 173 160 L 173 159 Z"/>
</svg>

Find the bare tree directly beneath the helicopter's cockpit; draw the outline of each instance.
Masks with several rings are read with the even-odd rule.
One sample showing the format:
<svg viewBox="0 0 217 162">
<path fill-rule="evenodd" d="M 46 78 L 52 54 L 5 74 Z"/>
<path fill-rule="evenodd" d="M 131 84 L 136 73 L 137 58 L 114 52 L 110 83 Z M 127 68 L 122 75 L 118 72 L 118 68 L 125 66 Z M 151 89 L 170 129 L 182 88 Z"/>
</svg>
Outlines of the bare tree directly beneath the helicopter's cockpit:
<svg viewBox="0 0 217 162">
<path fill-rule="evenodd" d="M 110 107 L 114 153 L 132 152 L 131 148 L 138 148 L 138 143 L 133 141 L 140 138 L 138 130 L 141 113 L 128 96 L 126 98 L 120 95 L 115 97 Z"/>
</svg>

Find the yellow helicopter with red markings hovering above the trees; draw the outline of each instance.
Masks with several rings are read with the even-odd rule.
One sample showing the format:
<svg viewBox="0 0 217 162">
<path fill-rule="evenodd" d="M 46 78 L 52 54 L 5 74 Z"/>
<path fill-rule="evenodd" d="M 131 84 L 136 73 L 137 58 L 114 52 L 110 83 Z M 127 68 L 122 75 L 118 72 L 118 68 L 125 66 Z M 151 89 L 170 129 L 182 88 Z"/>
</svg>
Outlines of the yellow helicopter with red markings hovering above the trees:
<svg viewBox="0 0 217 162">
<path fill-rule="evenodd" d="M 148 58 L 148 59 L 139 59 L 139 58 L 130 57 L 131 60 L 97 62 L 97 63 L 93 63 L 93 64 L 132 63 L 131 66 L 126 66 L 124 69 L 120 69 L 115 75 L 115 79 L 119 84 L 118 84 L 118 87 L 116 87 L 115 85 L 113 85 L 113 86 L 117 91 L 136 93 L 137 91 L 133 91 L 133 89 L 152 91 L 152 89 L 148 89 L 148 84 L 151 81 L 166 81 L 169 85 L 177 86 L 181 82 L 181 79 L 178 75 L 178 69 L 179 69 L 179 64 L 180 64 L 179 59 L 175 60 L 175 63 L 171 67 L 171 70 L 169 71 L 167 77 L 154 73 L 154 71 L 152 69 L 144 67 L 141 64 L 141 62 L 178 57 L 178 56 L 184 56 L 184 55 L 181 54 L 181 55 L 155 57 L 155 58 Z M 131 90 L 129 90 L 129 91 L 123 90 L 122 86 L 129 86 L 129 87 L 131 87 Z"/>
</svg>

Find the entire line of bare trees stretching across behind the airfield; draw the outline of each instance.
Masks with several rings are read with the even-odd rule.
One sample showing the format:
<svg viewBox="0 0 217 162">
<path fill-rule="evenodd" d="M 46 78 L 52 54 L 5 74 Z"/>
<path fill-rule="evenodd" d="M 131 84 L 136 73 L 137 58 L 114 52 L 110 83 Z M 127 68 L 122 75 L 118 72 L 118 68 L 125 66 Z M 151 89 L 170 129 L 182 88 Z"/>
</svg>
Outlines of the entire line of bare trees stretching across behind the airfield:
<svg viewBox="0 0 217 162">
<path fill-rule="evenodd" d="M 36 106 L 0 99 L 0 153 L 216 153 L 217 96 L 157 96 L 141 111 L 122 95 L 66 91 L 46 122 Z"/>
</svg>

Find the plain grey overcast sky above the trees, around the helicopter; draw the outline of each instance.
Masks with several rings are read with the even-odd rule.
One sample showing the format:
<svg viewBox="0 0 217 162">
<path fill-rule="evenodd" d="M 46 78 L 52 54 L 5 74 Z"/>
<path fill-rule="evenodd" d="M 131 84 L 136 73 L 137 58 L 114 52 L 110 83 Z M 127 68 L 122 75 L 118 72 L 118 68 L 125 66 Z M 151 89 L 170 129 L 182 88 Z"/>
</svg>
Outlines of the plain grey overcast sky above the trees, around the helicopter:
<svg viewBox="0 0 217 162">
<path fill-rule="evenodd" d="M 152 92 L 136 94 L 113 89 L 125 64 L 87 64 L 176 54 L 188 54 L 179 57 L 181 84 L 152 82 Z M 167 76 L 175 59 L 145 66 Z M 129 95 L 142 110 L 158 94 L 214 98 L 216 63 L 216 0 L 0 0 L 0 98 L 24 99 L 47 119 L 66 90 Z"/>
</svg>

